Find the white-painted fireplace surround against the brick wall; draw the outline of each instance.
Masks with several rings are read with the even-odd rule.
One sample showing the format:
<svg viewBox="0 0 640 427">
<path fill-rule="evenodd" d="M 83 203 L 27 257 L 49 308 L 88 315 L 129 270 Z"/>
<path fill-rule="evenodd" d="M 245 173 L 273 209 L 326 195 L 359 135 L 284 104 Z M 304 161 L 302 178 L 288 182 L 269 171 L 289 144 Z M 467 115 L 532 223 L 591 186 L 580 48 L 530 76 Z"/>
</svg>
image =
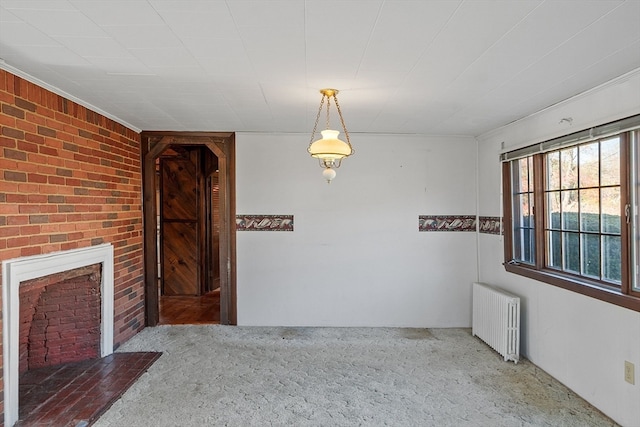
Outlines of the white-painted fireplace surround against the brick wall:
<svg viewBox="0 0 640 427">
<path fill-rule="evenodd" d="M 77 269 L 87 271 L 98 264 L 100 274 L 99 356 L 113 353 L 113 246 L 110 244 L 16 258 L 2 262 L 2 316 L 5 425 L 18 420 L 18 378 L 20 372 L 20 288 L 33 279 Z M 89 273 L 91 276 L 92 273 Z M 74 284 L 74 286 L 76 286 Z M 91 305 L 91 303 L 89 303 Z M 85 308 L 77 308 L 84 310 Z M 91 316 L 90 316 L 91 317 Z M 98 317 L 98 316 L 96 316 Z M 85 325 L 87 326 L 87 325 Z M 87 326 L 89 329 L 91 325 Z M 82 344 L 84 347 L 85 344 Z M 88 350 L 90 352 L 91 350 Z"/>
</svg>

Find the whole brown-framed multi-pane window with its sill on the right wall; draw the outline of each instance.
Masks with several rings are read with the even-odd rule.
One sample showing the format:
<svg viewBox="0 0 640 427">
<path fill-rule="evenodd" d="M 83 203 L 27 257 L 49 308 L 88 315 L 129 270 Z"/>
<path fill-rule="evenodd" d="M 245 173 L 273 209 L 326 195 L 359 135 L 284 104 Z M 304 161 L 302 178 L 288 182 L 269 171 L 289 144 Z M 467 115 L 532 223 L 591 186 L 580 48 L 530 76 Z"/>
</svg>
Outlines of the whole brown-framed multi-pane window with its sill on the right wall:
<svg viewBox="0 0 640 427">
<path fill-rule="evenodd" d="M 638 127 L 503 154 L 507 271 L 640 311 Z"/>
</svg>

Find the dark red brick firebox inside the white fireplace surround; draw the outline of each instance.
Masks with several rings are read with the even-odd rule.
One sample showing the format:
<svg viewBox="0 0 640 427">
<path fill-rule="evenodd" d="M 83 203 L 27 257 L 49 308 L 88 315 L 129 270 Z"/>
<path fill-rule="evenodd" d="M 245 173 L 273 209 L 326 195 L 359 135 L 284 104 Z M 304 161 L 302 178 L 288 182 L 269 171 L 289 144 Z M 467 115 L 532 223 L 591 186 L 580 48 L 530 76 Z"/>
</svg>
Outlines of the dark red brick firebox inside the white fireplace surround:
<svg viewBox="0 0 640 427">
<path fill-rule="evenodd" d="M 100 357 L 101 264 L 20 284 L 20 373 Z"/>
</svg>

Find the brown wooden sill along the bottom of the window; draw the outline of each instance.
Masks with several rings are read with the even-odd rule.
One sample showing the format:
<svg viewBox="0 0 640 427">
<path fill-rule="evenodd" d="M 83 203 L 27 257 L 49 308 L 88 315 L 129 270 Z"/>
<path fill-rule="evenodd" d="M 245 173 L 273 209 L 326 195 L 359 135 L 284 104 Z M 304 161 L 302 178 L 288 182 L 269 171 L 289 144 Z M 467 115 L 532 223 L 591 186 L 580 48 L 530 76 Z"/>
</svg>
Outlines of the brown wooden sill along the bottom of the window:
<svg viewBox="0 0 640 427">
<path fill-rule="evenodd" d="M 594 283 L 569 278 L 560 274 L 554 274 L 547 270 L 536 270 L 523 265 L 504 264 L 504 268 L 509 273 L 528 277 L 530 279 L 548 283 L 600 301 L 640 312 L 640 298 L 632 295 L 625 295 L 615 288 L 608 288 Z"/>
</svg>

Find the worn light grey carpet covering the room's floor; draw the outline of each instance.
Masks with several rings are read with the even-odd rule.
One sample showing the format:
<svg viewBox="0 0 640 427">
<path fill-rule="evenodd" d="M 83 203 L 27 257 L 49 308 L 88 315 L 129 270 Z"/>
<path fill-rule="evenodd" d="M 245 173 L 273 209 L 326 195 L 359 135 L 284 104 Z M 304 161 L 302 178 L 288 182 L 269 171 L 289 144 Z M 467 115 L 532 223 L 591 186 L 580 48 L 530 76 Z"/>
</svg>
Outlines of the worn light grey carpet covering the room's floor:
<svg viewBox="0 0 640 427">
<path fill-rule="evenodd" d="M 146 328 L 163 355 L 96 423 L 111 426 L 615 426 L 468 329 Z"/>
</svg>

